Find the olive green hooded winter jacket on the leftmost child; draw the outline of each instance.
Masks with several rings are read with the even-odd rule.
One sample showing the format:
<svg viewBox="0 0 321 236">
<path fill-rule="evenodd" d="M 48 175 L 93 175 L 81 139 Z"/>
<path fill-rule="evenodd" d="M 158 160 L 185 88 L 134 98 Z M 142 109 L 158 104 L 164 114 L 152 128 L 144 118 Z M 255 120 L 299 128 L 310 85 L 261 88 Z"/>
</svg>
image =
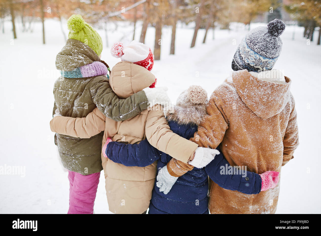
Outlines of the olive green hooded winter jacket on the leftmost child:
<svg viewBox="0 0 321 236">
<path fill-rule="evenodd" d="M 81 77 L 79 68 L 93 62 L 101 60 L 88 45 L 75 39 L 67 40 L 56 57 L 56 68 L 62 71 L 64 76 L 69 72 L 76 76 L 61 76 L 56 80 L 53 114 L 58 109 L 66 117 L 86 117 L 98 107 L 104 115 L 119 121 L 131 118 L 148 107 L 148 100 L 143 91 L 121 100 L 110 88 L 106 76 Z M 75 73 L 77 71 L 79 73 Z M 77 74 L 80 78 L 77 78 Z M 64 167 L 82 175 L 100 172 L 102 136 L 103 133 L 96 133 L 88 139 L 82 139 L 56 134 L 55 144 L 58 146 Z"/>
</svg>

